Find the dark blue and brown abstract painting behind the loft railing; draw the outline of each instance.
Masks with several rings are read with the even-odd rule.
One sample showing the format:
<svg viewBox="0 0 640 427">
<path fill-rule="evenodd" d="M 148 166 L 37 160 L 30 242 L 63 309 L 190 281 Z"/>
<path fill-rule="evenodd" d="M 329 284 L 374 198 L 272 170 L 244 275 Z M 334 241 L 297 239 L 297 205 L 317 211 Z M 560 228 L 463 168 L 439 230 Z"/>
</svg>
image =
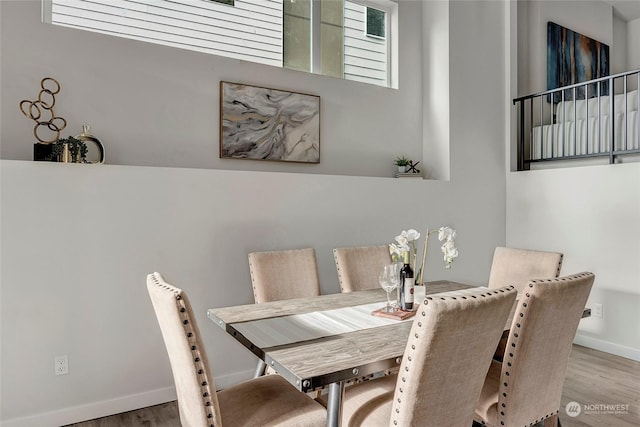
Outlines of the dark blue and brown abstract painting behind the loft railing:
<svg viewBox="0 0 640 427">
<path fill-rule="evenodd" d="M 583 36 L 553 22 L 547 23 L 547 89 L 556 89 L 609 75 L 609 46 Z M 597 84 L 580 86 L 577 98 L 598 95 Z M 565 100 L 573 99 L 573 91 L 565 92 Z M 608 82 L 600 85 L 600 95 L 608 95 Z M 554 103 L 561 101 L 561 93 L 553 94 Z"/>
</svg>

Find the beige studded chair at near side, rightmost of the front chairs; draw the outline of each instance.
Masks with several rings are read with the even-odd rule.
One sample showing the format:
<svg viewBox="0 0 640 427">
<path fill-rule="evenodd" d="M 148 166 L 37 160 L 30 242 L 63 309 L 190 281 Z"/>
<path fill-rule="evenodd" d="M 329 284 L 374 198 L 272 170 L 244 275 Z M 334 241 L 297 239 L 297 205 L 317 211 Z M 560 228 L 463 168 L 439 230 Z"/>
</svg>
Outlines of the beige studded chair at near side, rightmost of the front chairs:
<svg viewBox="0 0 640 427">
<path fill-rule="evenodd" d="M 579 273 L 529 282 L 518 299 L 504 361 L 489 368 L 475 421 L 558 425 L 569 353 L 594 279 Z"/>
</svg>

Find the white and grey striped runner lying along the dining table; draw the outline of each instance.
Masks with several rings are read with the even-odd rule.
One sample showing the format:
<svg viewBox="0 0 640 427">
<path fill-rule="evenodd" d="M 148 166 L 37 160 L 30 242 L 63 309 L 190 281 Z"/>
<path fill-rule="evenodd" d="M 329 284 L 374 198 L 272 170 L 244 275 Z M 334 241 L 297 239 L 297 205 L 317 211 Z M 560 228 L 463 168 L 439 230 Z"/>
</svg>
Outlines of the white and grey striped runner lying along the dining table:
<svg viewBox="0 0 640 427">
<path fill-rule="evenodd" d="M 442 295 L 465 295 L 469 292 L 475 293 L 477 291 L 478 288 L 473 288 L 472 290 L 446 292 Z M 416 301 L 424 299 L 423 286 L 416 287 L 415 299 Z M 413 317 L 406 320 L 396 320 L 371 315 L 372 311 L 384 305 L 385 302 L 382 301 L 353 307 L 234 323 L 233 327 L 254 345 L 265 349 L 413 320 Z"/>
</svg>

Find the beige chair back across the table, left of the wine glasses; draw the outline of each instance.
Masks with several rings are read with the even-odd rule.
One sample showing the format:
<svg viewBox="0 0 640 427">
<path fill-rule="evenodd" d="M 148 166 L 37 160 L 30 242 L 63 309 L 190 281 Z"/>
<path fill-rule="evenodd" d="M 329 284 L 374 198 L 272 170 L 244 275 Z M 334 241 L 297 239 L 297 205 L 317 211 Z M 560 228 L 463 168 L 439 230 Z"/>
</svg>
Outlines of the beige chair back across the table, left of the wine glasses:
<svg viewBox="0 0 640 427">
<path fill-rule="evenodd" d="M 249 271 L 256 303 L 320 295 L 313 248 L 252 252 Z"/>
</svg>

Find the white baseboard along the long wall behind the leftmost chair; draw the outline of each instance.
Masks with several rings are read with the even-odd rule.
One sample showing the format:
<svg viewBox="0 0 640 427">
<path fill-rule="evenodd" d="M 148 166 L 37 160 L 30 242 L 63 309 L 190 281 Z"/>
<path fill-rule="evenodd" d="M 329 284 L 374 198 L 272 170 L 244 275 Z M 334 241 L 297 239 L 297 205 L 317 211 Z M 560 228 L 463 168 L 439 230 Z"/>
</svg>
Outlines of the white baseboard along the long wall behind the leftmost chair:
<svg viewBox="0 0 640 427">
<path fill-rule="evenodd" d="M 253 371 L 221 375 L 215 377 L 216 387 L 218 389 L 227 388 L 251 378 L 252 375 Z M 146 408 L 147 406 L 159 405 L 173 400 L 176 400 L 176 390 L 175 387 L 171 386 L 115 399 L 92 402 L 86 405 L 71 406 L 55 411 L 2 420 L 0 425 L 2 427 L 58 427 Z"/>
</svg>

